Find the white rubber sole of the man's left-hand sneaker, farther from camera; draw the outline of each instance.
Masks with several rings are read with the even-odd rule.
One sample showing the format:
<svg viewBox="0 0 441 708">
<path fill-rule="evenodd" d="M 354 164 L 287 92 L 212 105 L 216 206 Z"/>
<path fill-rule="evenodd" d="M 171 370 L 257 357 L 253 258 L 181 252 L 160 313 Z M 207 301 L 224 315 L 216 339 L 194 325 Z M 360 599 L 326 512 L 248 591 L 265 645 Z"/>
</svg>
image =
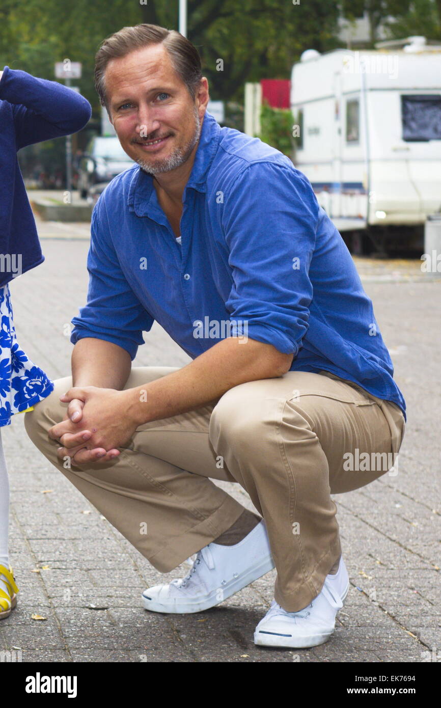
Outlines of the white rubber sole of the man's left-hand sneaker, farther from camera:
<svg viewBox="0 0 441 708">
<path fill-rule="evenodd" d="M 142 604 L 145 610 L 150 610 L 150 612 L 164 612 L 166 614 L 173 615 L 188 615 L 192 612 L 202 612 L 202 610 L 209 610 L 210 607 L 215 605 L 220 605 L 224 600 L 227 600 L 234 595 L 234 593 L 239 593 L 239 590 L 246 588 L 250 583 L 253 583 L 258 578 L 261 578 L 265 573 L 269 573 L 274 568 L 274 561 L 272 556 L 266 556 L 260 563 L 256 566 L 252 566 L 246 571 L 244 576 L 241 578 L 234 579 L 230 581 L 227 585 L 221 588 L 215 588 L 208 595 L 202 595 L 195 600 L 190 600 L 186 598 L 182 602 L 179 598 L 176 598 L 177 602 L 168 604 L 160 603 L 154 598 L 149 598 L 147 590 L 142 593 Z M 217 594 L 219 590 L 222 590 L 222 600 L 219 600 Z"/>
</svg>

